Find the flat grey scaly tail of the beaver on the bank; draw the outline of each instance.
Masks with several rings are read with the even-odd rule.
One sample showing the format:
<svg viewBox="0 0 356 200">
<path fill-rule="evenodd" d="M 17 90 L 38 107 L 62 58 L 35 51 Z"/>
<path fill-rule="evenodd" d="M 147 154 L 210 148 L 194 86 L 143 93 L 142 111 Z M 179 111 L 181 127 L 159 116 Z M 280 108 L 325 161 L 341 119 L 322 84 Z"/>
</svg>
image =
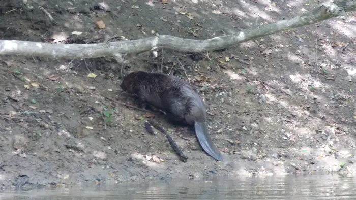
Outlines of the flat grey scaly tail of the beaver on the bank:
<svg viewBox="0 0 356 200">
<path fill-rule="evenodd" d="M 208 155 L 212 156 L 214 159 L 216 159 L 218 161 L 223 161 L 223 157 L 222 157 L 220 151 L 216 148 L 212 139 L 207 134 L 206 123 L 205 122 L 195 122 L 194 128 L 195 128 L 196 138 L 198 139 L 198 142 L 199 142 L 201 148 L 203 148 L 203 150 Z"/>
</svg>

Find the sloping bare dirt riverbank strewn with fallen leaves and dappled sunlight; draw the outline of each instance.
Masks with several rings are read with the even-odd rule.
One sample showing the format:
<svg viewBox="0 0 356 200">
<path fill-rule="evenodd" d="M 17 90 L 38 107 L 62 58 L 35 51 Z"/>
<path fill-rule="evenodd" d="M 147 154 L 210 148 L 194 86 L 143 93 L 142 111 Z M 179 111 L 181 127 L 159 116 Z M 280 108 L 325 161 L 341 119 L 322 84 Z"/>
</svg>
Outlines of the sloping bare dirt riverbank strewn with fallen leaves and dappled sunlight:
<svg viewBox="0 0 356 200">
<path fill-rule="evenodd" d="M 106 0 L 107 7 L 99 1 L 36 2 L 2 1 L 2 39 L 99 43 L 105 35 L 117 41 L 157 33 L 207 39 L 315 6 L 306 1 Z M 99 20 L 104 29 L 96 27 Z M 352 173 L 355 22 L 349 13 L 224 51 L 192 56 L 160 50 L 157 58 L 144 53 L 124 65 L 111 58 L 1 56 L 0 187 Z M 155 113 L 189 157 L 181 162 L 164 135 L 144 129 L 144 118 L 152 114 L 125 106 L 135 101 L 123 94 L 122 77 L 161 68 L 199 90 L 225 162 L 207 156 L 192 132 Z"/>
</svg>

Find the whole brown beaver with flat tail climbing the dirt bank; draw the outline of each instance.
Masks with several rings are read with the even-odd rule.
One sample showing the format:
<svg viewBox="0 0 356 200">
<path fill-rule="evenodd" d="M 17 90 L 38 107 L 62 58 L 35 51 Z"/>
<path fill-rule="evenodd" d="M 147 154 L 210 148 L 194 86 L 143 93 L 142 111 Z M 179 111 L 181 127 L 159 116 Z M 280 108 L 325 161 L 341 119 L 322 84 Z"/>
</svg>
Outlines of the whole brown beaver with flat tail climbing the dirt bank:
<svg viewBox="0 0 356 200">
<path fill-rule="evenodd" d="M 205 105 L 189 83 L 171 75 L 135 71 L 123 79 L 120 87 L 129 94 L 136 94 L 141 108 L 154 106 L 166 112 L 169 120 L 194 127 L 202 149 L 214 159 L 223 161 L 207 133 Z"/>
</svg>

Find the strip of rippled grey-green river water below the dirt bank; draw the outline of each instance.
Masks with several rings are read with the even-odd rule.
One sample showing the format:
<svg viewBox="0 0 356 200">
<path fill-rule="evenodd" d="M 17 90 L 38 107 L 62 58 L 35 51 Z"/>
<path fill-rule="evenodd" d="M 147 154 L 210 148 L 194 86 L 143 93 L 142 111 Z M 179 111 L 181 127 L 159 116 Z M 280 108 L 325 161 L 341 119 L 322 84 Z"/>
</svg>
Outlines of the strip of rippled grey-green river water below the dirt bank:
<svg viewBox="0 0 356 200">
<path fill-rule="evenodd" d="M 0 192 L 0 199 L 356 199 L 352 176 L 308 175 L 165 181 Z"/>
</svg>

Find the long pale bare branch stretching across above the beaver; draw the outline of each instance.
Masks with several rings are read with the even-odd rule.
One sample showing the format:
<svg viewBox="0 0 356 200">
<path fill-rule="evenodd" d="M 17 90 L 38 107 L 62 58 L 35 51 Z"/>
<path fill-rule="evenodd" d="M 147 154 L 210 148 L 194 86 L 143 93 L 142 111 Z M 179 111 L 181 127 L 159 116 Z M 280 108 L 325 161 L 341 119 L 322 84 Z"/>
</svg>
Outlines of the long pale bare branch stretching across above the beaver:
<svg viewBox="0 0 356 200">
<path fill-rule="evenodd" d="M 245 29 L 236 34 L 207 40 L 184 39 L 160 35 L 132 41 L 98 44 L 49 44 L 40 42 L 0 40 L 0 55 L 22 55 L 52 58 L 98 58 L 113 56 L 122 62 L 121 55 L 137 55 L 157 48 L 179 52 L 203 52 L 223 49 L 254 38 L 268 36 L 291 28 L 317 23 L 356 10 L 356 0 L 339 0 L 323 3 L 311 12 L 292 19 Z"/>
</svg>

